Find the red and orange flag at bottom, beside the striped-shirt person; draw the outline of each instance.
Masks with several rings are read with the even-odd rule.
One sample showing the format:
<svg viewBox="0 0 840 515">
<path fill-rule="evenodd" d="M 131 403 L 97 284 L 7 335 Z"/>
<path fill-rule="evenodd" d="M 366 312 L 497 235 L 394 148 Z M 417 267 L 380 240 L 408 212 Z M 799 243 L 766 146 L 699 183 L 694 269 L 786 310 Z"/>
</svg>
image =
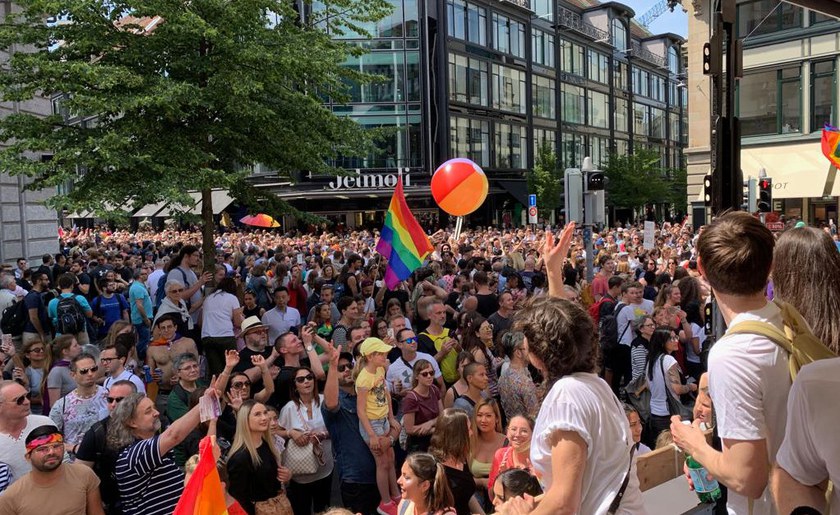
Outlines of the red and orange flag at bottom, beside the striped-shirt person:
<svg viewBox="0 0 840 515">
<path fill-rule="evenodd" d="M 201 439 L 198 449 L 198 465 L 172 515 L 227 515 L 225 490 L 209 436 Z"/>
</svg>

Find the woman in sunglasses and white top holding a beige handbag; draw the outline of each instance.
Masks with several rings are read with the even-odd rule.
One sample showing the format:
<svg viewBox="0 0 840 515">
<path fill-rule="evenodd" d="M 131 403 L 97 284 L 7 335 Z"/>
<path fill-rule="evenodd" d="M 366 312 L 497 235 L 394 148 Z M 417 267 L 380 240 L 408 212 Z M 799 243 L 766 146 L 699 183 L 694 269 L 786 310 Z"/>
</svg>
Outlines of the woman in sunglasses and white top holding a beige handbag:
<svg viewBox="0 0 840 515">
<path fill-rule="evenodd" d="M 288 496 L 295 513 L 321 513 L 330 503 L 329 495 L 325 495 L 324 492 L 330 491 L 333 472 L 330 434 L 321 414 L 324 396 L 318 393 L 312 370 L 299 368 L 295 371 L 294 378 L 292 400 L 280 411 L 280 427 L 283 428 L 280 435 L 289 439 L 286 443 L 287 452 L 293 445 L 320 443 L 320 454 L 324 464 L 313 474 L 293 475 Z M 289 463 L 284 461 L 284 465 L 289 466 Z"/>
</svg>

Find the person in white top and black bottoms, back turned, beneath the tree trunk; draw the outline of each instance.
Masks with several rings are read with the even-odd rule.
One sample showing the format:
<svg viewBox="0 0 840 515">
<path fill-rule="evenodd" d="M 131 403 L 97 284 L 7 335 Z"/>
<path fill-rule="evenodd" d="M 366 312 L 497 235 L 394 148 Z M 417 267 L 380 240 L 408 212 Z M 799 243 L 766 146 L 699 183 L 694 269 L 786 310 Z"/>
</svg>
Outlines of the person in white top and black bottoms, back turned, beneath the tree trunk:
<svg viewBox="0 0 840 515">
<path fill-rule="evenodd" d="M 236 281 L 225 277 L 204 298 L 201 341 L 207 356 L 208 373 L 219 375 L 225 368 L 225 351 L 236 350 L 234 327 L 242 323 L 242 307 L 236 297 Z"/>
</svg>

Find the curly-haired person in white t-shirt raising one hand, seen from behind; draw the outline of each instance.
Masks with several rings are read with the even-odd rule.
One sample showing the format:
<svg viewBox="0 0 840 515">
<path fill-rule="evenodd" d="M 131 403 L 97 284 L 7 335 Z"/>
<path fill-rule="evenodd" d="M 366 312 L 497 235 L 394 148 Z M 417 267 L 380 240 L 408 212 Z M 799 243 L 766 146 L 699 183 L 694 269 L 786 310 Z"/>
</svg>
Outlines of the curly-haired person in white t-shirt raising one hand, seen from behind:
<svg viewBox="0 0 840 515">
<path fill-rule="evenodd" d="M 577 304 L 560 298 L 574 229 L 574 223 L 567 225 L 556 245 L 553 234 L 546 233 L 543 257 L 550 296 L 534 299 L 514 322 L 549 387 L 531 441 L 531 463 L 545 488 L 533 513 L 604 515 L 625 478 L 616 513 L 644 513 L 631 460 L 635 442 L 624 408 L 593 373 L 598 352 L 592 319 Z"/>
</svg>

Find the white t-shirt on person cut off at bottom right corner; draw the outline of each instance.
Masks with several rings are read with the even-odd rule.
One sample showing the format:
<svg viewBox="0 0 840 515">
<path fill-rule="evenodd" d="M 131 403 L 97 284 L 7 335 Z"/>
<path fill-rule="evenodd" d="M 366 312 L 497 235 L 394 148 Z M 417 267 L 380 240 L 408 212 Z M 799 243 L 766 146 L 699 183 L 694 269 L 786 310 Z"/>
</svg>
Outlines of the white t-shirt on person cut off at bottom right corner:
<svg viewBox="0 0 840 515">
<path fill-rule="evenodd" d="M 804 485 L 834 483 L 831 513 L 840 514 L 840 358 L 802 367 L 790 389 L 788 424 L 776 462 Z M 832 408 L 831 406 L 835 406 Z"/>
</svg>

